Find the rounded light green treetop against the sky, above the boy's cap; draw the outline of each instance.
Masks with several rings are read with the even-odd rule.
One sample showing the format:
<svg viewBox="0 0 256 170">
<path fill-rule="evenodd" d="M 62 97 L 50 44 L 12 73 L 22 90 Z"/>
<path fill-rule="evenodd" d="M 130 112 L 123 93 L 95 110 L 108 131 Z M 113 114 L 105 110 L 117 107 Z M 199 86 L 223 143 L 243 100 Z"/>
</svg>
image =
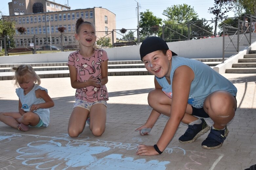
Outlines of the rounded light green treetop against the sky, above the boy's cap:
<svg viewBox="0 0 256 170">
<path fill-rule="evenodd" d="M 198 17 L 194 8 L 187 4 L 167 7 L 163 15 L 168 18 L 167 20 L 175 21 L 176 23 L 187 23 L 193 18 Z"/>
</svg>

